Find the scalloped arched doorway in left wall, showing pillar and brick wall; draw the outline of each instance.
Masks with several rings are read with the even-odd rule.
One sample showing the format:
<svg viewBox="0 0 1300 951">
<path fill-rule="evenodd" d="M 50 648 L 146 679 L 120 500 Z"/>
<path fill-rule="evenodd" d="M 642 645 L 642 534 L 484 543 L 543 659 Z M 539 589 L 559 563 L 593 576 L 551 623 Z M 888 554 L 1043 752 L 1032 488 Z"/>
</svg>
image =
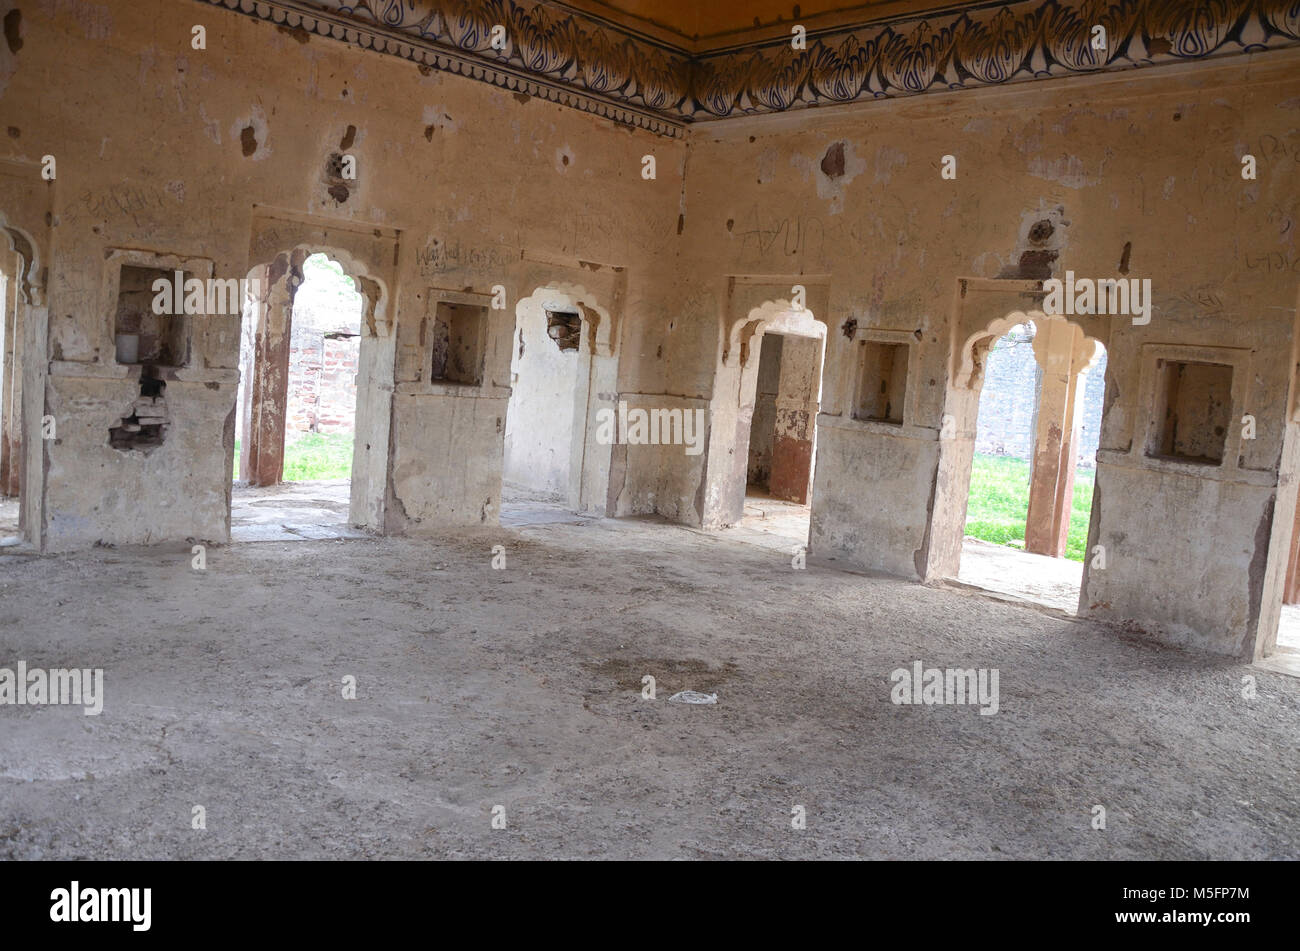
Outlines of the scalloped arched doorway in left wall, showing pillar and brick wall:
<svg viewBox="0 0 1300 951">
<path fill-rule="evenodd" d="M 255 266 L 240 325 L 231 539 L 382 530 L 387 292 L 338 248 Z"/>
</svg>

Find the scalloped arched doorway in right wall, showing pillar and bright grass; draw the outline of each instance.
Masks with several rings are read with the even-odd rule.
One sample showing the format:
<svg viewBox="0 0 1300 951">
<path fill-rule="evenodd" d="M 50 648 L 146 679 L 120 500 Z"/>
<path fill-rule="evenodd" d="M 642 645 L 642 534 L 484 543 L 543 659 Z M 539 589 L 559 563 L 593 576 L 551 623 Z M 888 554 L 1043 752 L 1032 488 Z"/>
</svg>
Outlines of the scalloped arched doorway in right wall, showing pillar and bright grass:
<svg viewBox="0 0 1300 951">
<path fill-rule="evenodd" d="M 1078 611 L 1102 401 L 1089 381 L 1104 378 L 1104 352 L 1041 312 L 1013 312 L 966 338 L 940 437 L 949 478 L 967 487 L 949 500 L 962 518 L 946 525 L 959 524 L 963 540 L 945 577 Z"/>
</svg>

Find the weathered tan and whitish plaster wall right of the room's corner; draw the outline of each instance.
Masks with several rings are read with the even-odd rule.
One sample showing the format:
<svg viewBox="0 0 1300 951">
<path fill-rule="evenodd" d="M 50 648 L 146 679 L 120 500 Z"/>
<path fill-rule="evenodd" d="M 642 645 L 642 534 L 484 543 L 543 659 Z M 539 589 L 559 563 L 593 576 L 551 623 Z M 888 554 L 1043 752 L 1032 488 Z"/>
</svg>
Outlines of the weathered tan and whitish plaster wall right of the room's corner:
<svg viewBox="0 0 1300 951">
<path fill-rule="evenodd" d="M 1149 278 L 1149 325 L 1104 317 L 1089 327 L 1109 351 L 1095 529 L 1110 560 L 1088 574 L 1082 605 L 1153 637 L 1248 651 L 1300 285 L 1296 75 L 1296 58 L 1278 53 L 1140 82 L 1066 81 L 696 126 L 684 294 L 718 299 L 727 275 L 745 274 L 829 287 L 812 555 L 926 579 L 954 573 L 952 527 L 966 491 L 956 483 L 974 438 L 974 413 L 952 387 L 954 349 L 1009 309 L 967 313 L 958 335 L 959 278 L 1066 269 Z M 1243 181 L 1243 153 L 1256 156 L 1257 181 Z M 945 155 L 957 158 L 954 181 L 940 175 Z M 1052 235 L 1035 243 L 1040 221 Z M 1031 295 L 1019 305 L 1037 304 Z M 716 331 L 728 318 L 719 307 L 705 320 Z M 902 426 L 849 418 L 852 344 L 875 330 L 915 339 Z M 686 339 L 673 340 L 673 361 L 686 359 Z M 1239 466 L 1214 478 L 1175 474 L 1130 453 L 1148 344 L 1248 353 L 1235 409 L 1254 414 L 1257 433 L 1240 446 Z M 940 439 L 945 414 L 968 418 L 970 433 Z M 716 416 L 714 433 L 728 438 Z M 719 455 L 711 447 L 710 459 Z M 1153 587 L 1162 594 L 1149 596 Z"/>
</svg>

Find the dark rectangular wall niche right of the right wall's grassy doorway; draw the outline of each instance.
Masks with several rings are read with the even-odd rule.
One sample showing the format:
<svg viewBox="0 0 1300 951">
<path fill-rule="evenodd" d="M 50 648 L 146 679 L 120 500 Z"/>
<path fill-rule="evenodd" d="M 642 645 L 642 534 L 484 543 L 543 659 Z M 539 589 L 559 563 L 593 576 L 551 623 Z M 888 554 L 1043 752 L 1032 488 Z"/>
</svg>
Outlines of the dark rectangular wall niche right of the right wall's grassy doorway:
<svg viewBox="0 0 1300 951">
<path fill-rule="evenodd" d="M 1154 411 L 1148 456 L 1219 465 L 1232 418 L 1232 368 L 1157 360 Z"/>
</svg>

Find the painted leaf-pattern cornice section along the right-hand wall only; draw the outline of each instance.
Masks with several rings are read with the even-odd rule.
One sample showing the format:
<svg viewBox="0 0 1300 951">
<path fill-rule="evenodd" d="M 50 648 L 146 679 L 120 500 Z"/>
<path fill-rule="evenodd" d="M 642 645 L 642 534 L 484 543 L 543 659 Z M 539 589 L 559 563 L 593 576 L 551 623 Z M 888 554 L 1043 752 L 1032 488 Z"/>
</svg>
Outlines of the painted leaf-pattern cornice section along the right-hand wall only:
<svg viewBox="0 0 1300 951">
<path fill-rule="evenodd" d="M 1105 49 L 1092 45 L 1105 27 Z M 1300 0 L 1061 0 L 836 30 L 694 61 L 693 121 L 1296 45 Z"/>
</svg>

